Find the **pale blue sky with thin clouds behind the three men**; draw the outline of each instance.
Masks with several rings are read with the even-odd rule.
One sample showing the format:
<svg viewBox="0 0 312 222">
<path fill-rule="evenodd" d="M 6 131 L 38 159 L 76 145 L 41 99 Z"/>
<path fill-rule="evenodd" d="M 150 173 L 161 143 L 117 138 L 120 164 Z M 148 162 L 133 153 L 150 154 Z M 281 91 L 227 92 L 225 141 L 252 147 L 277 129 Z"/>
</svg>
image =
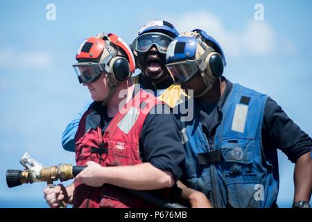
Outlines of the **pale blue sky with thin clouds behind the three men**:
<svg viewBox="0 0 312 222">
<path fill-rule="evenodd" d="M 26 151 L 46 166 L 75 162 L 60 141 L 90 100 L 71 67 L 80 43 L 103 32 L 130 43 L 153 19 L 180 33 L 202 28 L 213 35 L 225 52 L 224 76 L 268 94 L 311 135 L 309 0 L 0 1 L 0 207 L 47 207 L 43 183 L 6 186 L 6 170 L 22 169 Z M 279 152 L 281 207 L 293 202 L 293 168 Z"/>
</svg>

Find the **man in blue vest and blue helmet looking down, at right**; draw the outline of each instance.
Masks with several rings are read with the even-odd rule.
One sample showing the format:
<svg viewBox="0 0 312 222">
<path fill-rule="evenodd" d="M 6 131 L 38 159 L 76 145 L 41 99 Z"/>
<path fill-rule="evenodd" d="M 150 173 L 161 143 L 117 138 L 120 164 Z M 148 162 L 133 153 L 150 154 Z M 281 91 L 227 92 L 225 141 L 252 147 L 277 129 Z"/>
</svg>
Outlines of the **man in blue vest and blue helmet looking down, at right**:
<svg viewBox="0 0 312 222">
<path fill-rule="evenodd" d="M 214 207 L 276 207 L 279 148 L 295 163 L 293 207 L 309 207 L 311 137 L 269 96 L 223 76 L 220 44 L 202 30 L 183 33 L 168 46 L 166 61 L 182 89 L 193 90 L 193 118 L 178 116 L 183 182 Z"/>
</svg>

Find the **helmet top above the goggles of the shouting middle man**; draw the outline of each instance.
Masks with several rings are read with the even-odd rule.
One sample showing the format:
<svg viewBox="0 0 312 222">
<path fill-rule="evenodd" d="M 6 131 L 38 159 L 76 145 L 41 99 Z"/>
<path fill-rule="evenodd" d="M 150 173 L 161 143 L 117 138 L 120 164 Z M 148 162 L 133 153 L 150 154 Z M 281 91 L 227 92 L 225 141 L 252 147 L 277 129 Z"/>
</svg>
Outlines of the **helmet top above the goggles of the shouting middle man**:
<svg viewBox="0 0 312 222">
<path fill-rule="evenodd" d="M 139 28 L 137 35 L 142 35 L 144 33 L 151 33 L 151 32 L 164 33 L 173 38 L 179 35 L 179 33 L 177 32 L 173 24 L 166 22 L 164 20 L 158 20 L 158 19 L 150 21 L 146 23 L 144 26 L 141 26 L 141 28 Z"/>
</svg>

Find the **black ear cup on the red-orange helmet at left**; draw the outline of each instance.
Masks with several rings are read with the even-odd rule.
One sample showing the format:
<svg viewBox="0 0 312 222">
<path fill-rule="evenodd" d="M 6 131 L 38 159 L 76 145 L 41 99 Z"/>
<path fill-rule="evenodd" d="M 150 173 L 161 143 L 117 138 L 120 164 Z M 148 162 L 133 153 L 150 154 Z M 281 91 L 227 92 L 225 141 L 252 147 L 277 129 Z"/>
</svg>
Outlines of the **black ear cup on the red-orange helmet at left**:
<svg viewBox="0 0 312 222">
<path fill-rule="evenodd" d="M 112 71 L 114 78 L 119 82 L 127 80 L 131 74 L 128 60 L 121 56 L 112 58 L 110 61 L 110 70 Z"/>
</svg>

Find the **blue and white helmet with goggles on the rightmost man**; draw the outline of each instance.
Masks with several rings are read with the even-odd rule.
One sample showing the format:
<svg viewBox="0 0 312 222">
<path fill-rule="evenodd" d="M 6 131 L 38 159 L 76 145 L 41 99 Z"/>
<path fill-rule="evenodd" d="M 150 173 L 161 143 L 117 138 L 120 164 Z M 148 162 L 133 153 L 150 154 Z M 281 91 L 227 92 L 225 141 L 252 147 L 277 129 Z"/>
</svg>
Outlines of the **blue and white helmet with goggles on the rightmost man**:
<svg viewBox="0 0 312 222">
<path fill-rule="evenodd" d="M 223 75 L 225 56 L 220 45 L 204 31 L 182 33 L 166 52 L 168 72 L 180 83 L 201 74 L 207 87 Z"/>
</svg>

